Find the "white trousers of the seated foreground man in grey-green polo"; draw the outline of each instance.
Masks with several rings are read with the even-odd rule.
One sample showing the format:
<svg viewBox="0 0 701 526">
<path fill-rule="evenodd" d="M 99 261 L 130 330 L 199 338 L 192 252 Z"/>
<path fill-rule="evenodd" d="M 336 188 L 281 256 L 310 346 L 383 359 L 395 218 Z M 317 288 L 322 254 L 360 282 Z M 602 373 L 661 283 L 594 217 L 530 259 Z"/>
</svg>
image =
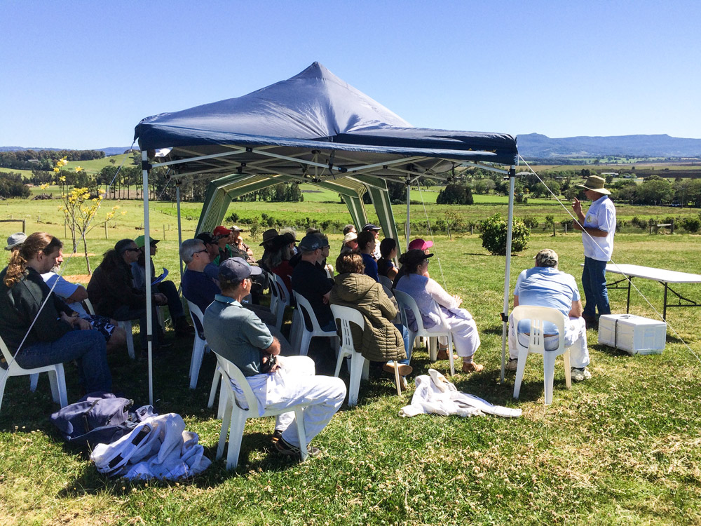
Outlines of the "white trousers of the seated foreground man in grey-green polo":
<svg viewBox="0 0 701 526">
<path fill-rule="evenodd" d="M 341 407 L 346 398 L 346 384 L 340 378 L 316 376 L 314 360 L 308 356 L 278 356 L 278 363 L 280 369 L 268 375 L 264 386 L 252 386 L 253 392 L 259 400 L 264 395 L 266 410 L 311 402 L 304 410 L 306 440 L 311 443 Z M 278 415 L 275 429 L 283 431 L 285 442 L 299 447 L 297 425 L 292 424 L 294 411 L 286 412 Z"/>
</svg>

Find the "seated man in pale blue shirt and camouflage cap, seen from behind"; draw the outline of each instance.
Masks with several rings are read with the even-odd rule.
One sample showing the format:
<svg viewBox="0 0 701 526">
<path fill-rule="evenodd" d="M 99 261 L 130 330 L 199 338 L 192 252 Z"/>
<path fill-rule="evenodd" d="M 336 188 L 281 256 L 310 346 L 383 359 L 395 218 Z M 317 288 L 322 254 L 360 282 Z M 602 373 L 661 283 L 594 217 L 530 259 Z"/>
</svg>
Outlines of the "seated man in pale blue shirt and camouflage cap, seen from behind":
<svg viewBox="0 0 701 526">
<path fill-rule="evenodd" d="M 557 269 L 558 257 L 554 250 L 546 248 L 536 255 L 536 266 L 519 274 L 514 289 L 514 306 L 536 305 L 557 309 L 565 316 L 565 345 L 570 347 L 570 365 L 572 379 L 576 382 L 592 377 L 587 369 L 589 349 L 587 347 L 587 328 L 582 318 L 582 300 L 573 276 Z M 557 328 L 545 324 L 545 350 L 557 349 L 559 336 Z M 506 370 L 515 371 L 518 365 L 519 351 L 516 345 L 518 337 L 522 346 L 529 342 L 531 323 L 522 320 L 515 328 L 513 319 L 509 322 L 509 362 Z M 548 332 L 550 331 L 550 332 Z M 518 334 L 517 334 L 518 333 Z"/>
</svg>

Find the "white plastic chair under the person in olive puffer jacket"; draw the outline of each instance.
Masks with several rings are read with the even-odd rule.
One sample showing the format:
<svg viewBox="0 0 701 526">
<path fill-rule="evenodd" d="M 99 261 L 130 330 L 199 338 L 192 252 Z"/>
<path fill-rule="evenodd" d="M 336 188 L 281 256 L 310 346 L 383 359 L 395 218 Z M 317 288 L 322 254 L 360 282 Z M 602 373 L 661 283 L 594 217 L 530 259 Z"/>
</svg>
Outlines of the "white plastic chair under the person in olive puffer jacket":
<svg viewBox="0 0 701 526">
<path fill-rule="evenodd" d="M 362 318 L 360 311 L 352 309 L 351 307 L 332 305 L 331 311 L 334 313 L 334 319 L 340 322 L 339 328 L 341 329 L 341 349 L 339 350 L 339 357 L 336 360 L 336 372 L 334 372 L 334 376 L 337 377 L 341 372 L 343 358 L 350 358 L 351 365 L 349 370 L 351 372 L 351 382 L 349 382 L 350 386 L 348 387 L 348 406 L 353 407 L 354 405 L 358 405 L 360 379 L 361 377 L 362 379 L 367 379 L 370 363 L 361 353 L 355 351 L 351 323 L 355 323 L 355 325 L 360 327 L 360 330 L 363 330 L 365 328 L 365 320 Z M 401 396 L 402 384 L 399 378 L 399 369 L 397 368 L 397 363 L 394 362 L 394 364 L 397 395 Z"/>
</svg>

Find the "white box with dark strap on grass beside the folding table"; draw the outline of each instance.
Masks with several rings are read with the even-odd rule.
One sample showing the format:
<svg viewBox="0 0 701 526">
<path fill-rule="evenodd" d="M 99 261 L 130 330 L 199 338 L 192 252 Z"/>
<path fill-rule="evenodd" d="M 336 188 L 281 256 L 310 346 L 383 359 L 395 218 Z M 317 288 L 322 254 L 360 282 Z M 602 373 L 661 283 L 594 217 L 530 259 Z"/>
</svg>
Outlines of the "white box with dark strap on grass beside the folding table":
<svg viewBox="0 0 701 526">
<path fill-rule="evenodd" d="M 599 317 L 599 343 L 628 354 L 662 354 L 667 323 L 634 314 L 604 314 Z"/>
</svg>

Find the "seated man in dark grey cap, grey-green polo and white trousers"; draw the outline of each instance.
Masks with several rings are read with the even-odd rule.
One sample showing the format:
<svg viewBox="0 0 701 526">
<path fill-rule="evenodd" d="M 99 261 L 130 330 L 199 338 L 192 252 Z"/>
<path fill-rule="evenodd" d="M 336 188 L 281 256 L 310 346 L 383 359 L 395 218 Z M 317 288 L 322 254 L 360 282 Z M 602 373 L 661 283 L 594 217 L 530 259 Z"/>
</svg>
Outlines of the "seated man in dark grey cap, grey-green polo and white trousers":
<svg viewBox="0 0 701 526">
<path fill-rule="evenodd" d="M 346 384 L 339 378 L 316 376 L 314 362 L 307 356 L 280 356 L 278 339 L 254 313 L 243 308 L 240 302 L 250 292 L 251 276 L 260 272 L 259 267 L 251 267 L 240 257 L 219 265 L 222 294 L 215 296 L 205 311 L 205 337 L 215 353 L 243 372 L 261 414 L 301 402 L 310 404 L 304 410 L 309 444 L 341 407 Z M 239 401 L 245 405 L 245 400 Z M 277 417 L 273 442 L 278 452 L 299 457 L 294 412 Z M 308 452 L 317 454 L 319 450 L 308 446 Z"/>
</svg>

